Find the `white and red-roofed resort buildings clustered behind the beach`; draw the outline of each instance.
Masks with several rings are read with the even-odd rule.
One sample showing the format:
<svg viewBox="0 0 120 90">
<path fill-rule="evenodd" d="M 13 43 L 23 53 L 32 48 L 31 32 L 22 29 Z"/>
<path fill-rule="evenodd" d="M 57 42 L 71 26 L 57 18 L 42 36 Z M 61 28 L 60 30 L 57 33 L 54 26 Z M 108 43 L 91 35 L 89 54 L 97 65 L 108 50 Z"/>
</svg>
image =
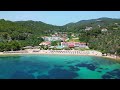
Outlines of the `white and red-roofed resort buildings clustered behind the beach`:
<svg viewBox="0 0 120 90">
<path fill-rule="evenodd" d="M 59 32 L 59 33 L 52 34 L 51 36 L 44 36 L 42 38 L 44 39 L 44 42 L 40 43 L 39 45 L 48 46 L 50 49 L 52 48 L 63 49 L 63 48 L 75 48 L 75 47 L 88 48 L 86 43 L 74 42 L 74 41 L 68 42 L 69 38 L 67 37 L 67 33 Z M 52 41 L 60 41 L 60 43 L 56 46 L 52 46 L 51 45 Z"/>
</svg>

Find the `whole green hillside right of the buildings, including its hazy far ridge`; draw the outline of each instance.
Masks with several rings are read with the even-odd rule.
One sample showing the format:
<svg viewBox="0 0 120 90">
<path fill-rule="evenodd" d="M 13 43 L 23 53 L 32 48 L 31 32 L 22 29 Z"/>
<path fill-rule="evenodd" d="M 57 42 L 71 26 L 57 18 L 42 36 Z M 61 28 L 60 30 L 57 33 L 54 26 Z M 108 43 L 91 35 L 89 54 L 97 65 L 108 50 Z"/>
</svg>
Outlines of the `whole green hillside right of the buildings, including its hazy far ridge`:
<svg viewBox="0 0 120 90">
<path fill-rule="evenodd" d="M 82 20 L 67 24 L 65 27 L 69 32 L 79 33 L 79 40 L 86 42 L 90 49 L 120 55 L 120 19 Z M 86 27 L 92 27 L 92 29 L 85 30 Z M 101 31 L 103 28 L 106 28 L 107 31 Z"/>
</svg>

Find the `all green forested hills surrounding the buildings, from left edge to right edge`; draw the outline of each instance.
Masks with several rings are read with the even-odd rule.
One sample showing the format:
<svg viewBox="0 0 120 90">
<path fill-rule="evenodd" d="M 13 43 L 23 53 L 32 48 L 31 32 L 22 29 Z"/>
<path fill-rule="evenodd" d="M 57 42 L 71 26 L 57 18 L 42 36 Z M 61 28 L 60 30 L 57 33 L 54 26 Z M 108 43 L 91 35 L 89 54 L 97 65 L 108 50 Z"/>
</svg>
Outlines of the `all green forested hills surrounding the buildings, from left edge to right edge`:
<svg viewBox="0 0 120 90">
<path fill-rule="evenodd" d="M 92 27 L 91 30 L 85 30 Z M 101 31 L 106 28 L 107 31 Z M 103 53 L 120 55 L 120 19 L 99 18 L 82 20 L 64 26 L 49 25 L 40 21 L 6 21 L 0 20 L 0 51 L 19 50 L 24 46 L 36 46 L 43 41 L 42 36 L 49 36 L 55 32 L 72 33 L 86 42 L 90 49 Z M 57 42 L 52 42 L 56 45 Z"/>
</svg>

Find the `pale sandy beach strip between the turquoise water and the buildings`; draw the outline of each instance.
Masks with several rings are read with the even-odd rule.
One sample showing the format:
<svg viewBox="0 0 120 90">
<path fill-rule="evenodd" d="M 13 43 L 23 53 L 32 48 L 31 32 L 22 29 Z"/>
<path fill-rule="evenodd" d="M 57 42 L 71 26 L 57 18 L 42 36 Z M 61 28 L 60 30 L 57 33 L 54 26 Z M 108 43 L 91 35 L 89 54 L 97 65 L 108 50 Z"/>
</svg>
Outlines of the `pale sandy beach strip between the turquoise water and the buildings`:
<svg viewBox="0 0 120 90">
<path fill-rule="evenodd" d="M 39 50 L 39 49 L 26 49 L 20 51 L 7 51 L 0 52 L 0 55 L 21 55 L 21 54 L 46 54 L 46 55 L 83 55 L 83 56 L 100 56 L 105 58 L 120 60 L 116 56 L 102 56 L 102 53 L 95 50 Z"/>
</svg>

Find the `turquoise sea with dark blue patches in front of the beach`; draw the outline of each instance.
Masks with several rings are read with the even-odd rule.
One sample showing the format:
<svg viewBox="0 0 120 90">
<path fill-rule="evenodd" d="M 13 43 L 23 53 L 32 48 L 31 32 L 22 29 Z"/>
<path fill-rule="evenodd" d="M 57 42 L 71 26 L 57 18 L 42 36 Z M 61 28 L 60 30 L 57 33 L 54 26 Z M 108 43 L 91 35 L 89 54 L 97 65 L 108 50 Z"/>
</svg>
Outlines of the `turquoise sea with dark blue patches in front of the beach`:
<svg viewBox="0 0 120 90">
<path fill-rule="evenodd" d="M 0 56 L 0 79 L 120 79 L 120 63 L 94 56 Z"/>
</svg>

